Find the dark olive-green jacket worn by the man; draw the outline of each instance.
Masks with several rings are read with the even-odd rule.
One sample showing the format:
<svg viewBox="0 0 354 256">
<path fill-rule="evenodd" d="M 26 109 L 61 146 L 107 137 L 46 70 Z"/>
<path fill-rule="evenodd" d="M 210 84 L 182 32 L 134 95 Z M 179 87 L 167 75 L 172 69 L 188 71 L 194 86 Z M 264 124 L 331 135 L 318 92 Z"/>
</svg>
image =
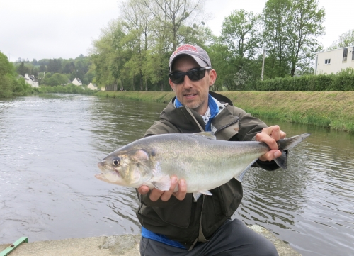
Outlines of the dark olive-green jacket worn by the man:
<svg viewBox="0 0 354 256">
<path fill-rule="evenodd" d="M 261 132 L 265 123 L 258 118 L 232 106 L 227 97 L 210 92 L 225 108 L 212 120 L 212 126 L 217 128 L 215 136 L 218 140 L 254 140 L 256 133 Z M 205 129 L 204 121 L 197 112 L 193 118 L 183 106 L 176 108 L 174 99 L 162 111 L 160 120 L 150 127 L 144 136 L 163 133 L 200 133 L 200 126 Z M 267 170 L 278 169 L 275 162 L 257 161 L 253 167 Z M 138 194 L 142 203 L 137 209 L 137 217 L 144 228 L 154 233 L 166 235 L 176 240 L 189 250 L 197 242 L 207 242 L 213 233 L 222 226 L 224 221 L 231 218 L 241 203 L 243 196 L 241 182 L 231 179 L 226 184 L 210 190 L 212 196 L 202 195 L 197 202 L 193 201 L 193 194 L 187 194 L 185 199 L 179 201 L 174 196 L 169 201 L 159 199 L 153 202 L 149 194 Z"/>
</svg>

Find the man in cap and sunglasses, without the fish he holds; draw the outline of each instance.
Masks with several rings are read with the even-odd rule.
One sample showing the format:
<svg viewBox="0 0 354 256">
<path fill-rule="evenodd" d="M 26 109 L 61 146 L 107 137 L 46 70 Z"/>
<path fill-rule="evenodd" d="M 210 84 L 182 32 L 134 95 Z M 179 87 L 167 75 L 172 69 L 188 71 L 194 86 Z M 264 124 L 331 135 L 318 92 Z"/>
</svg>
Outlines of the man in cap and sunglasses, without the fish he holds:
<svg viewBox="0 0 354 256">
<path fill-rule="evenodd" d="M 162 111 L 160 120 L 145 136 L 162 133 L 198 133 L 209 130 L 218 140 L 258 140 L 270 151 L 253 167 L 278 169 L 274 160 L 281 155 L 276 143 L 285 138 L 279 126 L 267 127 L 232 102 L 209 91 L 217 73 L 207 52 L 196 45 L 182 45 L 170 57 L 169 84 L 176 93 Z M 198 154 L 198 152 L 195 152 Z M 178 191 L 173 192 L 178 184 Z M 171 177 L 169 191 L 141 186 L 137 189 L 142 224 L 140 252 L 145 255 L 278 255 L 275 247 L 242 221 L 231 221 L 241 203 L 241 182 L 231 179 L 212 189 L 212 196 L 193 201 L 186 194 L 183 179 Z"/>
</svg>

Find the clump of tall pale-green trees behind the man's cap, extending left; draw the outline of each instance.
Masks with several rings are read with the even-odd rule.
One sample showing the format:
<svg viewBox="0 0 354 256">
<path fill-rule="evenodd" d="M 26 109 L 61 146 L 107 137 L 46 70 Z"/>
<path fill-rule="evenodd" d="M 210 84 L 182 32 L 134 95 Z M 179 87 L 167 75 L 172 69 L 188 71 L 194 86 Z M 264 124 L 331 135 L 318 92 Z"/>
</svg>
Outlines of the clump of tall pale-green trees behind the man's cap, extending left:
<svg viewBox="0 0 354 256">
<path fill-rule="evenodd" d="M 207 40 L 198 26 L 205 0 L 125 0 L 120 21 L 111 21 L 93 42 L 96 82 L 107 89 L 169 89 L 168 63 L 180 43 Z"/>
</svg>

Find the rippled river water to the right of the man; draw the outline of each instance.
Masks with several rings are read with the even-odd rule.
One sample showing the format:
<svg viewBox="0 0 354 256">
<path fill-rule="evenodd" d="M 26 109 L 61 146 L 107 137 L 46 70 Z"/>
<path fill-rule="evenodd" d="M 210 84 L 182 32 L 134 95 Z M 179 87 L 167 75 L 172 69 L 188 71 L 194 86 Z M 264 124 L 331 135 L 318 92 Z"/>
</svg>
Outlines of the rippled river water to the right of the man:
<svg viewBox="0 0 354 256">
<path fill-rule="evenodd" d="M 246 174 L 244 201 L 235 217 L 273 230 L 303 255 L 353 255 L 354 136 L 278 124 L 287 136 L 312 135 L 290 152 L 286 171 Z"/>
</svg>

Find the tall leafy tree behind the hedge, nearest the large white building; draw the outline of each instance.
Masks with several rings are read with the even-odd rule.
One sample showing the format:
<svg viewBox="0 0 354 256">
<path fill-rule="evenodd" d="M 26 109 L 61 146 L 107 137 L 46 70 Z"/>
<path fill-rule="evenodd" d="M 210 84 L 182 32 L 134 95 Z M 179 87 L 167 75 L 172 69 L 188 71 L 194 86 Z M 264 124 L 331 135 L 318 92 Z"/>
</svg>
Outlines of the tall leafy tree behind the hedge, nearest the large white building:
<svg viewBox="0 0 354 256">
<path fill-rule="evenodd" d="M 321 50 L 317 38 L 324 35 L 324 9 L 319 2 L 268 0 L 263 16 L 266 63 L 270 61 L 273 68 L 270 76 L 294 76 L 295 69 L 307 69 L 315 52 Z"/>
</svg>

